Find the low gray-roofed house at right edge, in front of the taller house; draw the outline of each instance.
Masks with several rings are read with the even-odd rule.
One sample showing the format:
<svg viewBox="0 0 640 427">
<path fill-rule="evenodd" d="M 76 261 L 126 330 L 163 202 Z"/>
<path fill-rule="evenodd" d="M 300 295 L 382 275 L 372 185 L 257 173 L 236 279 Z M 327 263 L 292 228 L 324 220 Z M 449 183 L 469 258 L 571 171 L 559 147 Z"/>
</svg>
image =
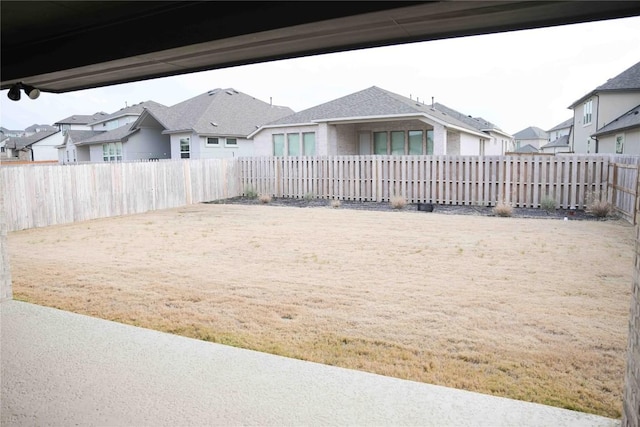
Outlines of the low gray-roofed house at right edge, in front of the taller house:
<svg viewBox="0 0 640 427">
<path fill-rule="evenodd" d="M 640 105 L 636 105 L 593 136 L 598 152 L 640 155 Z"/>
</svg>

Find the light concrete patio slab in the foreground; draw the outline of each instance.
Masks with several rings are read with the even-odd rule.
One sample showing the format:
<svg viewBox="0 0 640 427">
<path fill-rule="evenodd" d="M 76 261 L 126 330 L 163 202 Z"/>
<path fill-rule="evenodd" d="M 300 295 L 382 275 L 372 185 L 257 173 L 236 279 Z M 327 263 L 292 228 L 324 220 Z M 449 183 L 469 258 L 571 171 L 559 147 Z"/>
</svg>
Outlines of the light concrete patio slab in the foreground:
<svg viewBox="0 0 640 427">
<path fill-rule="evenodd" d="M 619 420 L 0 304 L 4 426 L 619 426 Z"/>
</svg>

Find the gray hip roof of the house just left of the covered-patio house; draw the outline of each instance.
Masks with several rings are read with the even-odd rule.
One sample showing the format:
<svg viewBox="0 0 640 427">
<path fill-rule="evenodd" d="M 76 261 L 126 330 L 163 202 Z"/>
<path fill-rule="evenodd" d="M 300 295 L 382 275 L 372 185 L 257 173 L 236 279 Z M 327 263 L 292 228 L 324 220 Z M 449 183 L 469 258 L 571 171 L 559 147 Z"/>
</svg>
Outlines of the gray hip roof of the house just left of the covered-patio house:
<svg viewBox="0 0 640 427">
<path fill-rule="evenodd" d="M 168 133 L 186 130 L 201 135 L 246 136 L 293 110 L 235 89 L 214 89 L 168 108 L 150 108 L 149 112 Z"/>
</svg>

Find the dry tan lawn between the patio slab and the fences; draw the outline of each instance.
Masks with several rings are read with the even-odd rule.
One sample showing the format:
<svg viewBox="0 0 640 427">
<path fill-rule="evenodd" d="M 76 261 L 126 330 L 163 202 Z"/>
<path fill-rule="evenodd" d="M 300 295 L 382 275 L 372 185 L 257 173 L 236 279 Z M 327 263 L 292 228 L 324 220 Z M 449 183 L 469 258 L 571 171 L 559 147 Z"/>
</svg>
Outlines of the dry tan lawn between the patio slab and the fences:
<svg viewBox="0 0 640 427">
<path fill-rule="evenodd" d="M 195 205 L 10 233 L 14 294 L 147 328 L 620 416 L 633 227 Z"/>
</svg>

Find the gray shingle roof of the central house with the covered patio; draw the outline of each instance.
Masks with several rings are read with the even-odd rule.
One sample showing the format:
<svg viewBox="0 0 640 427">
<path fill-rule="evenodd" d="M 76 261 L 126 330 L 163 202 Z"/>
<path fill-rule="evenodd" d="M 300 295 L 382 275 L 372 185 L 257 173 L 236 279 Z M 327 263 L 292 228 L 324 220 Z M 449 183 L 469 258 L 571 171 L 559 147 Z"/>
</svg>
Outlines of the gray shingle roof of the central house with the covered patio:
<svg viewBox="0 0 640 427">
<path fill-rule="evenodd" d="M 441 109 L 439 109 L 438 106 L 440 106 Z M 368 89 L 283 117 L 282 119 L 268 123 L 268 125 L 296 125 L 350 117 L 427 114 L 451 125 L 476 132 L 479 130 L 479 127 L 475 124 L 472 126 L 458 119 L 457 117 L 466 117 L 462 113 L 448 109 L 442 104 L 434 105 L 434 107 L 435 108 L 432 109 L 431 104 L 423 104 L 402 95 L 372 86 Z M 455 112 L 455 114 L 448 114 L 447 111 L 443 111 L 445 109 Z"/>
</svg>

